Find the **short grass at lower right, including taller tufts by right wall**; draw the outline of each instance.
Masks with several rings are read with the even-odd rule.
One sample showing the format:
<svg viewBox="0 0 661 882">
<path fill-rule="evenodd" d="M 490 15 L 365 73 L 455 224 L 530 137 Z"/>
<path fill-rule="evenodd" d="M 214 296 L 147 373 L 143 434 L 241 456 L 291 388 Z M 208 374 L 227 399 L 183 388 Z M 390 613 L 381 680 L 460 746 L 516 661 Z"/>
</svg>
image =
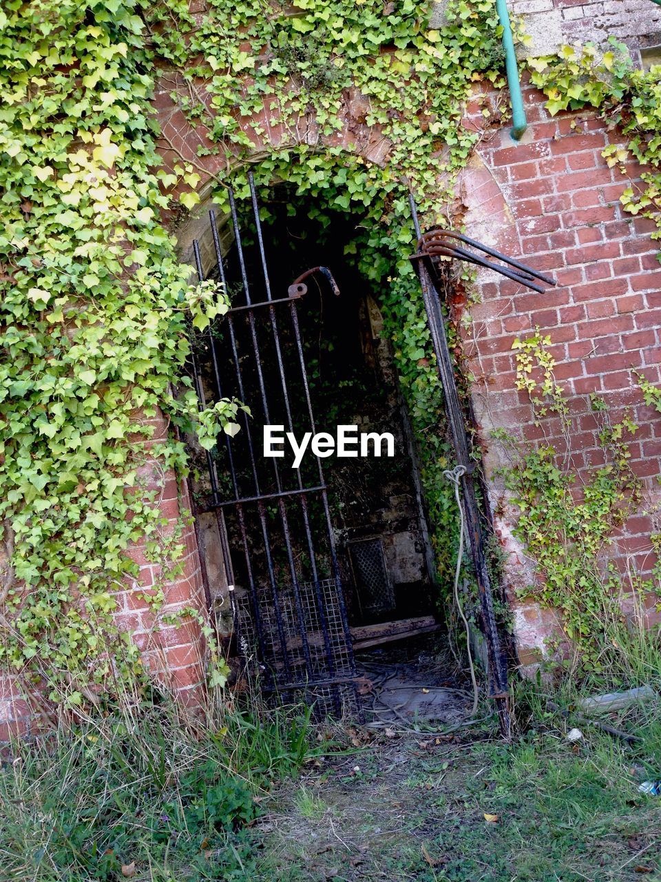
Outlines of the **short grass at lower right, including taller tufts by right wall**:
<svg viewBox="0 0 661 882">
<path fill-rule="evenodd" d="M 511 744 L 412 732 L 303 770 L 264 804 L 254 882 L 661 882 L 661 797 L 638 790 L 661 778 L 658 637 L 612 623 L 601 662 L 580 682 L 517 684 Z M 577 714 L 583 694 L 642 684 L 656 702 L 605 719 L 633 744 Z M 326 811 L 305 810 L 301 787 Z"/>
</svg>

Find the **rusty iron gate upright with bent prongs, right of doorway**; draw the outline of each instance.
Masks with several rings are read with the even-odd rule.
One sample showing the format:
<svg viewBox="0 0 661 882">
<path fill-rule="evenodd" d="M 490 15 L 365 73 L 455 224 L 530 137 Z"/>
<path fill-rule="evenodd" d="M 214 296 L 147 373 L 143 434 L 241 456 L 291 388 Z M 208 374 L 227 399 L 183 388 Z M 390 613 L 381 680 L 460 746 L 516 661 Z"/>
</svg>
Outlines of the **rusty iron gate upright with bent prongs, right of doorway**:
<svg viewBox="0 0 661 882">
<path fill-rule="evenodd" d="M 438 230 L 431 230 L 429 233 L 422 235 L 420 232 L 418 211 L 412 193 L 409 194 L 409 203 L 411 206 L 413 227 L 415 228 L 415 235 L 418 239 L 417 253 L 412 256 L 412 259 L 415 261 L 425 309 L 427 310 L 427 325 L 429 326 L 429 332 L 431 333 L 434 353 L 436 355 L 437 370 L 439 377 L 441 378 L 443 394 L 445 396 L 449 429 L 455 448 L 457 465 L 464 467 L 464 474 L 460 479 L 464 503 L 464 519 L 466 522 L 467 534 L 470 538 L 472 563 L 478 583 L 480 610 L 485 629 L 489 677 L 491 681 L 490 698 L 493 698 L 495 701 L 501 735 L 509 738 L 510 717 L 507 662 L 502 652 L 501 639 L 495 621 L 494 596 L 486 567 L 482 523 L 473 477 L 475 464 L 474 461 L 471 460 L 471 454 L 469 451 L 464 414 L 462 411 L 461 400 L 459 399 L 459 393 L 457 391 L 457 381 L 449 351 L 445 320 L 442 314 L 441 295 L 434 283 L 434 276 L 437 276 L 437 266 L 434 264 L 433 259 L 435 256 L 434 239 L 437 243 L 437 247 L 443 249 L 441 253 L 447 253 L 447 256 L 452 258 L 458 258 L 470 263 L 487 266 L 489 269 L 501 273 L 501 275 L 510 279 L 514 278 L 516 281 L 519 281 L 521 284 L 524 284 L 533 290 L 543 291 L 544 288 L 539 288 L 532 279 L 538 279 L 550 285 L 554 285 L 555 282 L 554 280 L 543 276 L 541 273 L 537 273 L 535 270 L 531 269 L 531 267 L 521 264 L 512 258 L 506 258 L 498 251 L 489 249 L 486 245 L 468 239 L 467 236 L 462 234 L 448 233 L 443 235 L 446 235 L 446 237 L 457 238 L 462 242 L 470 244 L 473 248 L 483 250 L 491 257 L 498 258 L 503 261 L 503 263 L 514 266 L 519 273 L 512 273 L 507 266 L 493 264 L 490 261 L 480 258 L 479 255 L 473 255 L 471 252 L 459 248 L 458 246 L 445 246 L 439 243 L 439 239 L 442 239 L 442 235 Z"/>
</svg>

